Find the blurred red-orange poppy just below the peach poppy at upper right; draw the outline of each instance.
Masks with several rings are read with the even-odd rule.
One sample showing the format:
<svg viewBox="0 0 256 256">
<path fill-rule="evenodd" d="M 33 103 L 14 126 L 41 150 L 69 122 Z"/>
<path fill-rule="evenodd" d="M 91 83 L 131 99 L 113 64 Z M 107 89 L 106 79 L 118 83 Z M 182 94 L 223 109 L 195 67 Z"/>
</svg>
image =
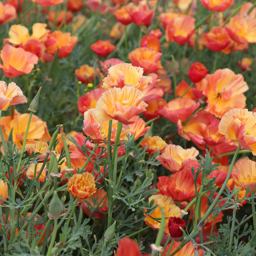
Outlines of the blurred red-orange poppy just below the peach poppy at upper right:
<svg viewBox="0 0 256 256">
<path fill-rule="evenodd" d="M 200 43 L 213 52 L 223 52 L 229 54 L 233 46 L 227 30 L 221 26 L 213 27 L 201 36 Z"/>
</svg>

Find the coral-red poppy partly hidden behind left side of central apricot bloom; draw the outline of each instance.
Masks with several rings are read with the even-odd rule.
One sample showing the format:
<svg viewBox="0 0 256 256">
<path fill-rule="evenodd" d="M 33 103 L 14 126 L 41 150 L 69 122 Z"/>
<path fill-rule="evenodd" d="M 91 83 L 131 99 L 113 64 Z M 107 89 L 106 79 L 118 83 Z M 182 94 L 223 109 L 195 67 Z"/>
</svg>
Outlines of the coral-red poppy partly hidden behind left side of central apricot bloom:
<svg viewBox="0 0 256 256">
<path fill-rule="evenodd" d="M 88 109 L 95 108 L 97 100 L 101 97 L 105 90 L 95 89 L 87 92 L 85 95 L 81 96 L 78 100 L 78 110 L 83 115 Z"/>
</svg>

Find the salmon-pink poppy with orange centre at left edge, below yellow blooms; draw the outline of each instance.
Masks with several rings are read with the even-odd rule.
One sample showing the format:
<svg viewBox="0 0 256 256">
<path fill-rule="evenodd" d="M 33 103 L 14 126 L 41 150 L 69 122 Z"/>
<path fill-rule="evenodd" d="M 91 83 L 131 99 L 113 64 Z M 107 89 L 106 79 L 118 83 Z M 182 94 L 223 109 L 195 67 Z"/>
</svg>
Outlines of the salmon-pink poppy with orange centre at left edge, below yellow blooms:
<svg viewBox="0 0 256 256">
<path fill-rule="evenodd" d="M 14 78 L 22 74 L 28 74 L 38 62 L 38 57 L 22 48 L 15 48 L 12 45 L 5 45 L 0 53 L 5 76 Z"/>
</svg>

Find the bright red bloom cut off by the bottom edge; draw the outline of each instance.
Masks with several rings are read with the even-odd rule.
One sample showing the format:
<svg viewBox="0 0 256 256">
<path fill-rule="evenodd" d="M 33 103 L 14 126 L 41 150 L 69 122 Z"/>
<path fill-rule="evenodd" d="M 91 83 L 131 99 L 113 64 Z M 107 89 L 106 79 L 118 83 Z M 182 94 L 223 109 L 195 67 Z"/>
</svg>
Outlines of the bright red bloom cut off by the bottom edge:
<svg viewBox="0 0 256 256">
<path fill-rule="evenodd" d="M 118 242 L 116 256 L 151 256 L 150 254 L 141 254 L 140 246 L 129 237 L 123 237 Z"/>
</svg>

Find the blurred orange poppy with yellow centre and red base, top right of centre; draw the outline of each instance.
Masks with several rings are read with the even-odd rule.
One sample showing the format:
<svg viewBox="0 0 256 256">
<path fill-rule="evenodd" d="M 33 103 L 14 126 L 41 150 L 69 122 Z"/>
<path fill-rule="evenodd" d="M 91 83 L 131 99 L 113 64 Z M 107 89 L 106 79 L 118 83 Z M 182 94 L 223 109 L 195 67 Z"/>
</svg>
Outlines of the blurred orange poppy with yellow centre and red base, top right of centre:
<svg viewBox="0 0 256 256">
<path fill-rule="evenodd" d="M 166 26 L 166 41 L 184 45 L 194 33 L 195 19 L 190 16 L 175 17 Z"/>
</svg>

